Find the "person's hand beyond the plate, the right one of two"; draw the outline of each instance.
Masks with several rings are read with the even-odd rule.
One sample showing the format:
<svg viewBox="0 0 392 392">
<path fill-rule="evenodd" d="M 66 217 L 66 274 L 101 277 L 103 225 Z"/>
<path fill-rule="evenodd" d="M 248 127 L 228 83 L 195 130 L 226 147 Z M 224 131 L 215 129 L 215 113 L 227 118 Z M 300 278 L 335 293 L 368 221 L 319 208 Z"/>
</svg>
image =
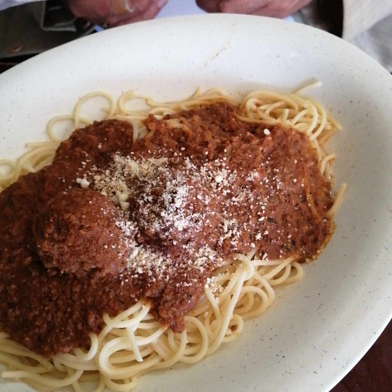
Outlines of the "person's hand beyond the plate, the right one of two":
<svg viewBox="0 0 392 392">
<path fill-rule="evenodd" d="M 196 0 L 208 12 L 250 14 L 285 18 L 312 0 Z"/>
</svg>

